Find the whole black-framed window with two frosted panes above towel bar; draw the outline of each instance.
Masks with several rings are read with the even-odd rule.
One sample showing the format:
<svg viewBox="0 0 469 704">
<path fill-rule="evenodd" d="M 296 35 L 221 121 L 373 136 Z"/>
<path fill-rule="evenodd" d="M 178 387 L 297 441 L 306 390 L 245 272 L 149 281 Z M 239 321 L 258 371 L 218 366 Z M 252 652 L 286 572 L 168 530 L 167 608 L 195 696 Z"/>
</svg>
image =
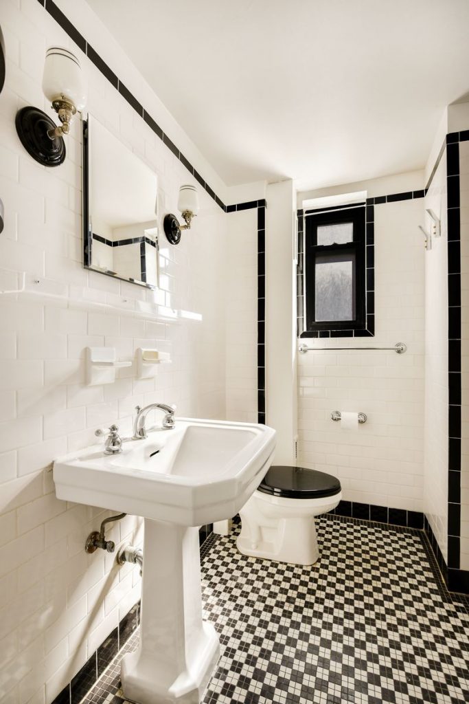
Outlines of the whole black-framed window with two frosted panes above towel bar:
<svg viewBox="0 0 469 704">
<path fill-rule="evenodd" d="M 364 207 L 305 213 L 305 335 L 366 328 L 365 261 Z"/>
</svg>

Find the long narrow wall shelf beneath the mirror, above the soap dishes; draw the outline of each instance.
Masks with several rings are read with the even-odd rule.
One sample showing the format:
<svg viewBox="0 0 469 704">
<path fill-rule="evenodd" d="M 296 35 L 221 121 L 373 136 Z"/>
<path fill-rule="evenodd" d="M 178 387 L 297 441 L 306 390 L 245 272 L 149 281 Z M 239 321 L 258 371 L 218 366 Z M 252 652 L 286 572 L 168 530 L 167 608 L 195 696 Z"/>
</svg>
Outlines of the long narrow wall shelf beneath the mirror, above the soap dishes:
<svg viewBox="0 0 469 704">
<path fill-rule="evenodd" d="M 155 294 L 153 291 L 145 291 L 144 295 L 150 297 Z M 181 320 L 202 320 L 200 313 L 161 306 L 148 299 L 106 294 L 98 289 L 62 284 L 24 271 L 7 269 L 0 269 L 0 303 L 2 300 L 28 301 L 39 306 L 47 304 L 88 310 L 92 313 L 124 315 L 172 325 L 180 325 Z"/>
</svg>

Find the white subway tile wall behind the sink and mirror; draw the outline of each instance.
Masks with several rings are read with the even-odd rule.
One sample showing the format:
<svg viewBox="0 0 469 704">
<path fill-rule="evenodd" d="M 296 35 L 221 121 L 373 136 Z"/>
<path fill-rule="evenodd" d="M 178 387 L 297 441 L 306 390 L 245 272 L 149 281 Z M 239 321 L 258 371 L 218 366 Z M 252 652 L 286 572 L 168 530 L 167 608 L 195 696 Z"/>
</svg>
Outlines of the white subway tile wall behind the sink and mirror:
<svg viewBox="0 0 469 704">
<path fill-rule="evenodd" d="M 45 276 L 71 297 L 89 287 L 90 301 L 147 299 L 202 315 L 201 321 L 172 325 L 74 310 L 39 296 L 0 295 L 0 702 L 45 704 L 140 595 L 139 570 L 118 569 L 115 555 L 103 551 L 84 553 L 86 536 L 109 514 L 58 501 L 51 463 L 96 442 L 98 426 L 117 422 L 122 434 L 129 434 L 138 403 L 164 401 L 176 403 L 179 415 L 225 416 L 220 339 L 227 216 L 201 192 L 200 215 L 177 248 L 167 244 L 161 229 L 161 288 L 154 298 L 131 284 L 86 272 L 79 120 L 66 139 L 67 159 L 56 169 L 32 161 L 15 133 L 15 113 L 22 106 L 53 115 L 41 92 L 46 46 L 59 44 L 79 54 L 89 80 L 89 111 L 158 174 L 161 219 L 177 213 L 179 186 L 195 180 L 37 0 L 2 0 L 0 24 L 7 54 L 0 96 L 0 196 L 6 216 L 1 269 Z M 100 31 L 102 46 L 96 49 L 113 56 L 117 73 L 124 71 L 126 79 L 134 75 L 127 59 L 113 51 L 105 29 Z M 152 105 L 155 96 L 149 89 L 144 94 L 144 85 L 139 84 L 139 99 Z M 254 224 L 254 246 L 255 232 Z M 255 289 L 251 293 L 255 306 Z M 172 364 L 158 367 L 155 378 L 136 379 L 134 365 L 118 372 L 115 384 L 86 387 L 83 357 L 89 345 L 113 346 L 120 359 L 133 358 L 139 346 L 157 347 L 171 353 Z M 127 517 L 108 536 L 138 544 L 141 520 Z"/>
</svg>

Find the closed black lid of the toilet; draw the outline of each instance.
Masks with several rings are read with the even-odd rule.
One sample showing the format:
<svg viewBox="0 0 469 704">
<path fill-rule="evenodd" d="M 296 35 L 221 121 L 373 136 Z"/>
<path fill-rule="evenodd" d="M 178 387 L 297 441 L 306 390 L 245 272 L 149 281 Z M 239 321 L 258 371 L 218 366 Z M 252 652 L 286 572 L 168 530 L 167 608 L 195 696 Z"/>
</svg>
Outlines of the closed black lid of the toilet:
<svg viewBox="0 0 469 704">
<path fill-rule="evenodd" d="M 306 467 L 274 465 L 269 469 L 257 491 L 283 498 L 322 498 L 340 493 L 337 477 Z"/>
</svg>

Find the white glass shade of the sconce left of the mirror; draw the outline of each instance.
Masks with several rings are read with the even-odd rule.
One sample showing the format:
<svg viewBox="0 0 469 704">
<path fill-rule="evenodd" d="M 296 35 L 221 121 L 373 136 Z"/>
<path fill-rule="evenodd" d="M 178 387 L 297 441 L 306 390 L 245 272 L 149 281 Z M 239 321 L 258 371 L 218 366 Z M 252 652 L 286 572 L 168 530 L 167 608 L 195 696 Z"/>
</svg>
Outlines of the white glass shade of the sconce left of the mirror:
<svg viewBox="0 0 469 704">
<path fill-rule="evenodd" d="M 42 90 L 51 103 L 54 100 L 65 99 L 82 111 L 86 105 L 87 87 L 82 67 L 68 49 L 61 46 L 51 46 L 46 51 Z"/>
</svg>

